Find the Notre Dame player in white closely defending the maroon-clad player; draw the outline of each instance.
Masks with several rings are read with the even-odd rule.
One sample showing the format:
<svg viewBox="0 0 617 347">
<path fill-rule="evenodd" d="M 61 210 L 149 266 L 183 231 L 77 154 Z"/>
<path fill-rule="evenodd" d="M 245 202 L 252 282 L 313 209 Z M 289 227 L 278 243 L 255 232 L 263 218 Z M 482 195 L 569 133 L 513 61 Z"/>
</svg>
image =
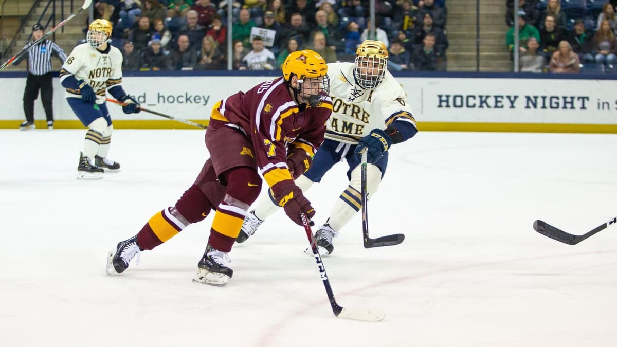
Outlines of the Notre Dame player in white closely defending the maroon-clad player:
<svg viewBox="0 0 617 347">
<path fill-rule="evenodd" d="M 387 58 L 383 43 L 366 40 L 357 49 L 354 63 L 328 64 L 333 109 L 325 141 L 310 169 L 296 180 L 306 191 L 337 162 L 345 159 L 349 165 L 349 185 L 315 235 L 321 254 L 333 252 L 332 238 L 362 209 L 360 153 L 368 151 L 366 189 L 367 197 L 372 197 L 386 172 L 387 150 L 418 132 L 405 91 L 387 71 Z M 262 196 L 255 209 L 246 214 L 236 241 L 246 241 L 278 209 L 270 198 Z"/>
</svg>

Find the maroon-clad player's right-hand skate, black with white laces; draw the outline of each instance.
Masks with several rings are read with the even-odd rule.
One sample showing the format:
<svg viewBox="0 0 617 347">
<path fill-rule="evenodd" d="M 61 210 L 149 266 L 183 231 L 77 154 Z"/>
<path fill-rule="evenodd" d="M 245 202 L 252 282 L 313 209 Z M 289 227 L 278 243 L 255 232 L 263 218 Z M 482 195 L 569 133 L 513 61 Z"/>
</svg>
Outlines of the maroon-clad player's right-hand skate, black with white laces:
<svg viewBox="0 0 617 347">
<path fill-rule="evenodd" d="M 233 276 L 233 270 L 228 267 L 230 262 L 229 254 L 218 251 L 208 244 L 204 256 L 197 264 L 197 275 L 193 278 L 193 282 L 213 286 L 226 285 Z"/>
</svg>

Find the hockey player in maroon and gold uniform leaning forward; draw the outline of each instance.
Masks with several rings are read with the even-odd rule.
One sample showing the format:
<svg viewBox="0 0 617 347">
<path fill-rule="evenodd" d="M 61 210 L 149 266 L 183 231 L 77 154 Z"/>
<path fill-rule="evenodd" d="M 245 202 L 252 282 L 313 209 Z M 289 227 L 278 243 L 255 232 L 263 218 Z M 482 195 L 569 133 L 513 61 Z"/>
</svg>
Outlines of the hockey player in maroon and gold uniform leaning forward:
<svg viewBox="0 0 617 347">
<path fill-rule="evenodd" d="M 216 210 L 194 282 L 225 285 L 228 263 L 242 221 L 257 199 L 263 176 L 291 220 L 302 225 L 315 209 L 294 179 L 304 174 L 323 142 L 332 112 L 328 66 L 317 53 L 292 52 L 283 77 L 218 101 L 205 145 L 210 152 L 196 181 L 174 206 L 157 212 L 139 233 L 120 241 L 107 257 L 107 274 L 120 274 L 144 249 L 153 249 Z"/>
</svg>

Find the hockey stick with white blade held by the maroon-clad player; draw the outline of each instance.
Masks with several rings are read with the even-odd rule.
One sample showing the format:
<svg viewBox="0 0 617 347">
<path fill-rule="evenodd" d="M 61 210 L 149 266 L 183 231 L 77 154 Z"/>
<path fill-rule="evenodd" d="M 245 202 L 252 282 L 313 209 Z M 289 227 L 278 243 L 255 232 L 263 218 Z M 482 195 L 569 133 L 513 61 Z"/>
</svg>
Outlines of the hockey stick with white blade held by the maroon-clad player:
<svg viewBox="0 0 617 347">
<path fill-rule="evenodd" d="M 334 293 L 332 292 L 332 287 L 330 286 L 330 281 L 328 280 L 328 274 L 326 274 L 326 268 L 323 265 L 323 261 L 321 261 L 321 256 L 317 250 L 317 242 L 315 242 L 313 230 L 310 228 L 309 219 L 304 212 L 300 212 L 300 218 L 302 219 L 302 225 L 304 226 L 304 230 L 309 238 L 310 248 L 313 250 L 313 256 L 315 256 L 315 261 L 317 262 L 317 267 L 319 268 L 319 274 L 321 275 L 323 286 L 326 287 L 326 293 L 328 293 L 328 299 L 330 301 L 332 311 L 334 312 L 334 316 L 347 319 L 365 320 L 368 322 L 379 322 L 379 320 L 384 319 L 384 316 L 386 316 L 384 312 L 371 309 L 352 311 L 341 307 L 336 303 Z"/>
</svg>

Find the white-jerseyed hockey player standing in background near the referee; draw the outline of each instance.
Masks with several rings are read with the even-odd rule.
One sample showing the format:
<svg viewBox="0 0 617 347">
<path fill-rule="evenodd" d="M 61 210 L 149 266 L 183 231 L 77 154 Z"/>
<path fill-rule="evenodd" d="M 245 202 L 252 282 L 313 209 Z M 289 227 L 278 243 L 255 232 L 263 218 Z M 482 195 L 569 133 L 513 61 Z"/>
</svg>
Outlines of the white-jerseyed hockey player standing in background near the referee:
<svg viewBox="0 0 617 347">
<path fill-rule="evenodd" d="M 107 159 L 114 131 L 105 102 L 107 91 L 126 103 L 122 107 L 126 114 L 141 111 L 136 99 L 122 89 L 122 53 L 107 43 L 111 35 L 109 20 L 94 20 L 88 27 L 88 42 L 76 46 L 60 70 L 68 104 L 88 128 L 77 178 L 97 179 L 103 177 L 103 170 L 120 170 L 118 162 Z"/>
</svg>

